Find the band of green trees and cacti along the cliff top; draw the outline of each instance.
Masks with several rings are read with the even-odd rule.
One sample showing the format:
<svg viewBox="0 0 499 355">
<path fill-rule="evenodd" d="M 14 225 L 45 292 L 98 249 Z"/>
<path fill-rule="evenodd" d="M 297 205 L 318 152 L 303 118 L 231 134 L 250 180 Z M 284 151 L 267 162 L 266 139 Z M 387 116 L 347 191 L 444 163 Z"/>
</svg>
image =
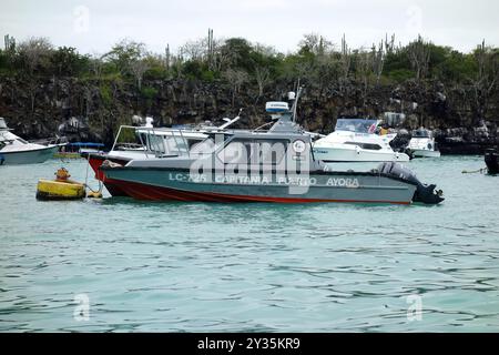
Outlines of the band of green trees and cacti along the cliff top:
<svg viewBox="0 0 499 355">
<path fill-rule="evenodd" d="M 395 47 L 394 38 L 390 42 L 387 39 L 378 45 L 374 44 L 371 49 L 352 50 L 346 42 L 342 43 L 342 50 L 337 47 L 317 34 L 305 36 L 297 51 L 288 54 L 278 53 L 271 47 L 249 43 L 242 38 L 214 41 L 210 47 L 205 39 L 201 39 L 186 43 L 176 54 L 169 53 L 166 57 L 149 52 L 144 43 L 123 40 L 104 55 L 92 58 L 80 54 L 75 48 L 53 48 L 44 38 L 31 38 L 18 45 L 14 43 L 13 48 L 0 50 L 0 73 L 29 72 L 41 77 L 86 77 L 98 80 L 104 77 L 120 78 L 136 81 L 139 87 L 144 79 L 224 80 L 227 70 L 245 72 L 247 81 L 253 83 L 262 79 L 275 81 L 302 78 L 314 82 L 324 77 L 335 80 L 365 74 L 370 78 L 379 75 L 385 83 L 413 79 L 469 83 L 482 70 L 479 68 L 478 52 L 490 57 L 492 65 L 487 70 L 496 73 L 498 64 L 497 48 L 479 45 L 471 53 L 461 53 L 421 38 L 405 47 Z M 264 73 L 262 69 L 265 69 Z"/>
</svg>

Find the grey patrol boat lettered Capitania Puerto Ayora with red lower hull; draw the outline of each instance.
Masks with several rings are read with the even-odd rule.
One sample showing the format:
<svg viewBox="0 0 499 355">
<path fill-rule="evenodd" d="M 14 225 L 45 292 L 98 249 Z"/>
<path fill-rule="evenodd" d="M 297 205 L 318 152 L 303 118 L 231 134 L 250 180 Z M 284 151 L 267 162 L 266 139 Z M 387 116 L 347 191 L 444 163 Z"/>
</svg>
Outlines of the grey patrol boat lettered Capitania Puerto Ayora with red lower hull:
<svg viewBox="0 0 499 355">
<path fill-rule="evenodd" d="M 298 93 L 299 94 L 299 93 Z M 437 204 L 435 185 L 384 163 L 370 172 L 330 171 L 314 156 L 310 135 L 295 123 L 296 102 L 267 102 L 266 131 L 208 133 L 204 149 L 186 155 L 133 159 L 100 166 L 126 195 L 150 201 L 358 202 Z"/>
</svg>

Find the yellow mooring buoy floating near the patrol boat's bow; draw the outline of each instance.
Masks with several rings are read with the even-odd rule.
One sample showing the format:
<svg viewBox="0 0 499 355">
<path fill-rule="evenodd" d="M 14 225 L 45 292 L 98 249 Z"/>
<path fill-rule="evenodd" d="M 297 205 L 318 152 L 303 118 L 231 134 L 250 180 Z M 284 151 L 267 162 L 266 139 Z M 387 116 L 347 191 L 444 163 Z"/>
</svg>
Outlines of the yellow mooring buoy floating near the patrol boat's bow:
<svg viewBox="0 0 499 355">
<path fill-rule="evenodd" d="M 38 200 L 79 200 L 85 196 L 85 185 L 69 180 L 71 175 L 68 170 L 61 168 L 55 175 L 55 180 L 38 181 Z"/>
</svg>

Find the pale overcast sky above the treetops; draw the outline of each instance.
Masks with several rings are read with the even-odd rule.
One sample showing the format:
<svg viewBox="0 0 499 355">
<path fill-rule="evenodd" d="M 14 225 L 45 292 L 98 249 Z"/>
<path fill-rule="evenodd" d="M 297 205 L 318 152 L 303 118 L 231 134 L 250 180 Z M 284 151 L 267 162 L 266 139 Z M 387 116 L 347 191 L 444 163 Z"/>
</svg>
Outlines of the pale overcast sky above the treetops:
<svg viewBox="0 0 499 355">
<path fill-rule="evenodd" d="M 472 50 L 482 39 L 499 47 L 497 0 L 0 0 L 0 32 L 18 41 L 48 37 L 55 45 L 104 53 L 129 38 L 162 53 L 206 36 L 243 37 L 294 51 L 304 33 L 353 48 L 385 33 L 407 43 L 418 33 L 437 44 Z"/>
</svg>

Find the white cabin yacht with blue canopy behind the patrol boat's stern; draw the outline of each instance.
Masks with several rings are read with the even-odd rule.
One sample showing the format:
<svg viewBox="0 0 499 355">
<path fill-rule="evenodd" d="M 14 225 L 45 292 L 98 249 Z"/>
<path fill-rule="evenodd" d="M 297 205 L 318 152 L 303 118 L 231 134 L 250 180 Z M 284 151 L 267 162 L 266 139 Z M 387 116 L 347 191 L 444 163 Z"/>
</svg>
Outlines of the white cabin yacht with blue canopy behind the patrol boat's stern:
<svg viewBox="0 0 499 355">
<path fill-rule="evenodd" d="M 335 131 L 314 143 L 314 155 L 324 162 L 408 162 L 409 155 L 395 152 L 396 133 L 377 134 L 380 120 L 339 119 Z"/>
</svg>

